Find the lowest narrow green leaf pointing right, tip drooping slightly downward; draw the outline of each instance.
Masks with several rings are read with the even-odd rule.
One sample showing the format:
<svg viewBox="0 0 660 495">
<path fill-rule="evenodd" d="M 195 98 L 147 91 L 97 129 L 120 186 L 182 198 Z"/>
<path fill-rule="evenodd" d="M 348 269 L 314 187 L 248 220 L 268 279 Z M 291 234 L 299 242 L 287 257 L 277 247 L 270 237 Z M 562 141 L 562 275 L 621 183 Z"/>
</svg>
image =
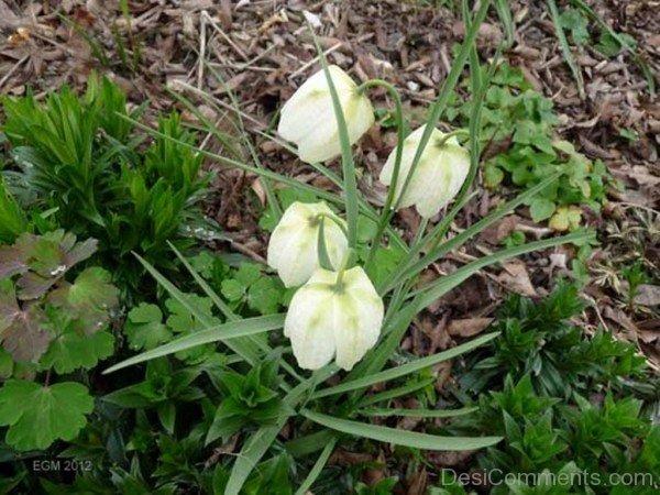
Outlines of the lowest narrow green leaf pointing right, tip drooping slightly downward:
<svg viewBox="0 0 660 495">
<path fill-rule="evenodd" d="M 414 449 L 465 451 L 483 449 L 502 441 L 502 437 L 439 437 L 435 435 L 417 433 L 415 431 L 397 430 L 394 428 L 351 421 L 349 419 L 334 418 L 310 410 L 302 410 L 301 415 L 314 422 L 324 426 L 326 428 L 341 431 L 342 433 L 354 435 L 356 437 L 369 438 L 385 443 L 411 447 Z"/>
</svg>

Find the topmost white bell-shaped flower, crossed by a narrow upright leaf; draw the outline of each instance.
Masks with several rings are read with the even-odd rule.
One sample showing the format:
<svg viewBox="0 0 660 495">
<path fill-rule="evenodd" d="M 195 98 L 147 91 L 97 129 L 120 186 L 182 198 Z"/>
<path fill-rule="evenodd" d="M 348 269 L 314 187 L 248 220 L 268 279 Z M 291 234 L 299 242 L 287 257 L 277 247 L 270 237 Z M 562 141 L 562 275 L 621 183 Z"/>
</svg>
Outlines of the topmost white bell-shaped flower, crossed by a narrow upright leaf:
<svg viewBox="0 0 660 495">
<path fill-rule="evenodd" d="M 336 65 L 328 68 L 353 145 L 373 125 L 374 109 L 346 73 Z M 341 154 L 332 97 L 322 69 L 307 79 L 284 105 L 277 132 L 296 143 L 302 162 L 324 162 Z"/>
</svg>

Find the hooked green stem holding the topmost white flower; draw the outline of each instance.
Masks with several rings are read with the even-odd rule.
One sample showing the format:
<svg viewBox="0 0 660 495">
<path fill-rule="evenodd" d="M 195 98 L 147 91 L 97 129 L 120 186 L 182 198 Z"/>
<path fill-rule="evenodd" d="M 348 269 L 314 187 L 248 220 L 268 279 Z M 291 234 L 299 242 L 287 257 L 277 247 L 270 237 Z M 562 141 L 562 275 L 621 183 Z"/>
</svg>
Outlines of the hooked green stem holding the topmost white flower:
<svg viewBox="0 0 660 495">
<path fill-rule="evenodd" d="M 376 254 L 376 250 L 381 245 L 381 239 L 383 238 L 383 233 L 385 229 L 389 224 L 389 220 L 392 219 L 392 204 L 394 202 L 394 196 L 396 191 L 396 185 L 398 180 L 399 169 L 402 166 L 402 156 L 404 153 L 404 140 L 406 139 L 406 129 L 404 128 L 404 106 L 402 103 L 402 97 L 396 90 L 396 88 L 389 82 L 383 79 L 372 79 L 363 82 L 358 87 L 358 91 L 365 91 L 369 88 L 373 87 L 382 87 L 389 92 L 392 98 L 394 99 L 395 106 L 395 120 L 396 120 L 396 154 L 394 157 L 394 172 L 392 174 L 392 182 L 389 184 L 389 188 L 387 190 L 387 197 L 385 198 L 385 205 L 383 206 L 383 211 L 381 212 L 381 217 L 378 219 L 378 224 L 376 229 L 376 235 L 372 241 L 371 249 L 366 256 L 366 261 L 364 262 L 365 268 L 371 264 L 374 255 Z"/>
</svg>

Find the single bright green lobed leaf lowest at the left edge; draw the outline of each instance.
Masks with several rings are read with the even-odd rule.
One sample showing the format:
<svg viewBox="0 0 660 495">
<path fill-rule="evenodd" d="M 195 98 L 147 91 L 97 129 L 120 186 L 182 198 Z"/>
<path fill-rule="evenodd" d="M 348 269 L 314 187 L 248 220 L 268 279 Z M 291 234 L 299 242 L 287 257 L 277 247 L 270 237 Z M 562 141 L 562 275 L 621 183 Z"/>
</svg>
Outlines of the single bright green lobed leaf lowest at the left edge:
<svg viewBox="0 0 660 495">
<path fill-rule="evenodd" d="M 73 440 L 87 424 L 94 398 L 79 383 L 44 387 L 10 380 L 0 388 L 0 426 L 8 426 L 6 442 L 16 450 L 44 450 L 55 440 Z"/>
</svg>

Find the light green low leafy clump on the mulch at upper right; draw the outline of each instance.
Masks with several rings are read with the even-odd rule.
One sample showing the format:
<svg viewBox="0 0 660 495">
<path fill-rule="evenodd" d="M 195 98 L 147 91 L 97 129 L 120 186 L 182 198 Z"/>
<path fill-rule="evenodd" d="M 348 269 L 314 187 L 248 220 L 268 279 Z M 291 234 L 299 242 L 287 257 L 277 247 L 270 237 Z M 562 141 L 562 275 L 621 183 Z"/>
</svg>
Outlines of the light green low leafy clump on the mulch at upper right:
<svg viewBox="0 0 660 495">
<path fill-rule="evenodd" d="M 580 227 L 585 206 L 600 211 L 606 186 L 612 182 L 601 161 L 591 162 L 568 142 L 556 138 L 557 116 L 552 101 L 535 91 L 520 70 L 502 64 L 492 78 L 482 110 L 481 142 L 504 146 L 484 165 L 490 188 L 513 184 L 528 189 L 558 170 L 565 174 L 529 201 L 535 222 L 549 220 L 558 231 Z M 450 119 L 465 122 L 472 103 L 448 110 Z"/>
</svg>

